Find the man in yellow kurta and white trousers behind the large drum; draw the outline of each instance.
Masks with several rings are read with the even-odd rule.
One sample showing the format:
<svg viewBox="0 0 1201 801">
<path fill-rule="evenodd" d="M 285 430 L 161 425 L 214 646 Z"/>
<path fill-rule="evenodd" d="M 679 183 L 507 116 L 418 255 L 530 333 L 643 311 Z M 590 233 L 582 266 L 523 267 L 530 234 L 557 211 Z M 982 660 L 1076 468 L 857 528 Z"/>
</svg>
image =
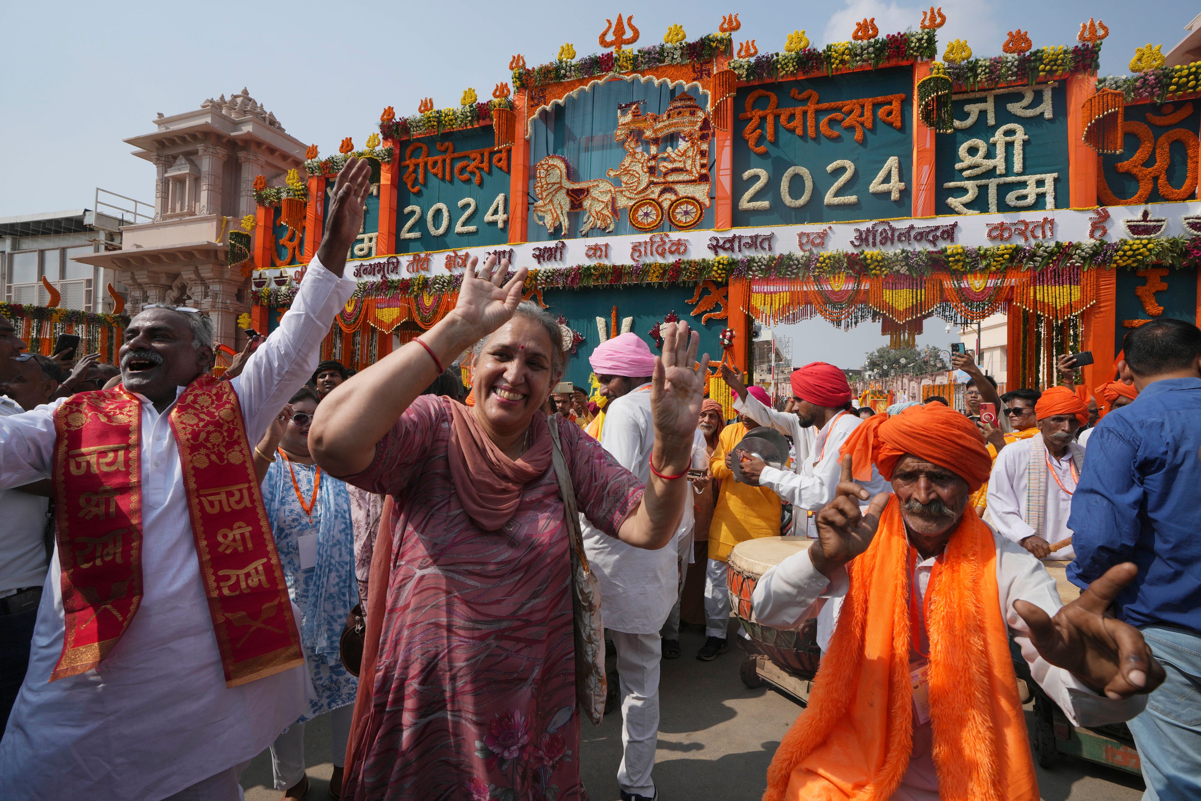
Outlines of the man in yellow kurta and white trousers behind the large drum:
<svg viewBox="0 0 1201 801">
<path fill-rule="evenodd" d="M 761 387 L 748 387 L 760 402 L 771 406 L 771 397 Z M 740 416 L 737 423 L 727 425 L 717 438 L 717 447 L 709 470 L 718 488 L 717 509 L 709 527 L 709 561 L 705 570 L 705 645 L 697 658 L 710 662 L 728 648 L 725 633 L 730 622 L 730 593 L 725 587 L 725 572 L 730 551 L 739 543 L 757 537 L 779 536 L 779 496 L 764 486 L 751 486 L 734 480 L 727 458 L 754 420 Z"/>
</svg>

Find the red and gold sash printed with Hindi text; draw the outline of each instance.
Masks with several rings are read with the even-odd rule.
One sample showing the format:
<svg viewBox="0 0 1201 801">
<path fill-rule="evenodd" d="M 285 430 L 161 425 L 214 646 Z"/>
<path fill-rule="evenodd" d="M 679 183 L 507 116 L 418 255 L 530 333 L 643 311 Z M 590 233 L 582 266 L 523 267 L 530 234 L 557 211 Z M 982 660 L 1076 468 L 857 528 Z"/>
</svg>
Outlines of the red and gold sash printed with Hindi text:
<svg viewBox="0 0 1201 801">
<path fill-rule="evenodd" d="M 50 681 L 96 668 L 142 602 L 141 420 L 138 399 L 121 387 L 73 395 L 55 411 L 66 632 Z M 226 686 L 304 664 L 237 393 L 202 376 L 169 422 Z"/>
</svg>

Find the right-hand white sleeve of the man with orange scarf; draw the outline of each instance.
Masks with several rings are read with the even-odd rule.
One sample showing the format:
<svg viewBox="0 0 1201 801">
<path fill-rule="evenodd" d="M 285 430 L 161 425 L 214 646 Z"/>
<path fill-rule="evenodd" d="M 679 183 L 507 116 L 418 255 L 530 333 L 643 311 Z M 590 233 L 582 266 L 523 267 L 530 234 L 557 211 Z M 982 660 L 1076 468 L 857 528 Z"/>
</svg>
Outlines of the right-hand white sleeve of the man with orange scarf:
<svg viewBox="0 0 1201 801">
<path fill-rule="evenodd" d="M 1054 579 L 1033 554 L 1010 542 L 998 540 L 997 544 L 997 582 L 1002 609 L 1034 681 L 1059 705 L 1074 725 L 1119 723 L 1142 712 L 1147 706 L 1146 695 L 1133 695 L 1118 701 L 1099 695 L 1072 674 L 1052 665 L 1039 654 L 1030 642 L 1029 627 L 1014 610 L 1014 602 L 1028 600 L 1053 616 L 1063 606 L 1059 591 Z"/>
</svg>

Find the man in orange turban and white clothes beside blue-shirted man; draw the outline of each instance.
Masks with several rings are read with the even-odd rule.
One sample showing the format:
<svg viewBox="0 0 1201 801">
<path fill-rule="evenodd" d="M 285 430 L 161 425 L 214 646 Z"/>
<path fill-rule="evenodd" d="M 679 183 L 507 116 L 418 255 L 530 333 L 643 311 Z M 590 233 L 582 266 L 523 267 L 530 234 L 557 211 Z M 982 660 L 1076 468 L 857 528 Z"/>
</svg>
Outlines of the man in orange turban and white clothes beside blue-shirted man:
<svg viewBox="0 0 1201 801">
<path fill-rule="evenodd" d="M 1088 407 L 1066 387 L 1052 387 L 1034 406 L 1039 434 L 1006 446 L 988 478 L 988 512 L 997 532 L 1039 558 L 1076 557 L 1071 548 L 1071 496 L 1085 465 L 1076 432 Z"/>
</svg>

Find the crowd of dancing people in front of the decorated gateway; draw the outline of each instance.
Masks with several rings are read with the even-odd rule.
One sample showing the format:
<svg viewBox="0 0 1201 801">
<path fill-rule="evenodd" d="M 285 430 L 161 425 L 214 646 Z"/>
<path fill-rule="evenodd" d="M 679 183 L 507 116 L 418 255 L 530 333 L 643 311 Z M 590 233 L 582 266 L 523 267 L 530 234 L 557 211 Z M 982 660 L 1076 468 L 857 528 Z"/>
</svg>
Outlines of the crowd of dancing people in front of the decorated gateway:
<svg viewBox="0 0 1201 801">
<path fill-rule="evenodd" d="M 228 801 L 269 751 L 303 799 L 324 715 L 334 797 L 585 797 L 611 650 L 616 783 L 656 799 L 662 660 L 686 624 L 705 662 L 746 636 L 727 560 L 779 536 L 811 544 L 755 618 L 817 618 L 823 658 L 765 799 L 1036 799 L 1010 641 L 1074 724 L 1129 722 L 1147 797 L 1201 796 L 1196 327 L 1133 329 L 1092 407 L 1070 360 L 998 394 L 956 354 L 964 411 L 856 408 L 824 363 L 772 399 L 723 364 L 727 419 L 687 323 L 563 382 L 557 323 L 490 258 L 352 373 L 318 351 L 369 174 L 348 162 L 289 312 L 220 379 L 191 310 L 133 317 L 119 369 L 0 317 L 5 797 Z"/>
</svg>

